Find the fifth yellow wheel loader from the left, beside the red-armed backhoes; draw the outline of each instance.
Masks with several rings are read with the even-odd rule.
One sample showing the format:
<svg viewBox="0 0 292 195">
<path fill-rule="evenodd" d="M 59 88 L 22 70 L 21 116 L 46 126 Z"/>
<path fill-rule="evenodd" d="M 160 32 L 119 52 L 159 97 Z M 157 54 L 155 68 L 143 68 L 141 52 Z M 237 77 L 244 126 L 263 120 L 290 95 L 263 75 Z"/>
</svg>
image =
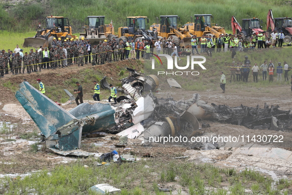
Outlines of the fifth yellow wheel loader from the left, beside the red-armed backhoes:
<svg viewBox="0 0 292 195">
<path fill-rule="evenodd" d="M 189 32 L 197 37 L 202 37 L 203 35 L 215 35 L 217 38 L 220 34 L 225 35 L 224 27 L 211 23 L 211 18 L 213 17 L 211 14 L 195 14 L 194 17 L 194 22 L 188 22 L 183 26 L 183 33 Z"/>
</svg>

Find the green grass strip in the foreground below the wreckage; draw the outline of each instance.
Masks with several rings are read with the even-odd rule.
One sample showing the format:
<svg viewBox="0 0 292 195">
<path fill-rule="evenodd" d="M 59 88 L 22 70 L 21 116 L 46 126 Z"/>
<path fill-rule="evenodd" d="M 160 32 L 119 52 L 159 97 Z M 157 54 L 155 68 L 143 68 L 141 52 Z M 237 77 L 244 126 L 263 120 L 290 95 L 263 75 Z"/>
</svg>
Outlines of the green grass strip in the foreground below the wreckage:
<svg viewBox="0 0 292 195">
<path fill-rule="evenodd" d="M 31 147 L 32 151 L 37 152 L 37 144 Z M 165 163 L 164 160 L 158 158 L 142 160 L 138 163 L 123 163 L 120 166 L 111 163 L 109 166 L 98 167 L 96 163 L 94 158 L 78 159 L 65 165 L 57 165 L 50 170 L 43 169 L 32 173 L 23 179 L 1 178 L 0 193 L 5 195 L 18 194 L 18 192 L 44 195 L 94 194 L 94 192 L 88 191 L 91 186 L 108 183 L 121 189 L 122 195 L 164 194 L 159 192 L 158 184 L 173 185 L 173 182 L 176 182 L 174 178 L 178 178 L 181 187 L 178 186 L 176 190 L 179 192 L 184 190 L 190 195 L 226 195 L 227 191 L 223 190 L 216 178 L 212 178 L 210 175 L 221 175 L 223 182 L 229 184 L 229 191 L 232 195 L 245 195 L 245 189 L 251 189 L 253 193 L 261 195 L 277 195 L 279 192 L 279 189 L 265 188 L 266 183 L 273 182 L 270 177 L 251 170 L 233 173 L 233 171 L 228 172 L 227 169 L 214 167 L 210 164 L 197 165 L 187 161 Z M 89 167 L 84 168 L 83 165 Z M 149 168 L 144 168 L 145 165 Z M 159 170 L 165 171 L 164 181 L 161 180 L 162 178 L 156 178 L 152 175 Z M 232 175 L 226 176 L 226 171 Z M 238 181 L 231 183 L 229 179 L 234 176 L 238 177 Z M 247 181 L 248 176 L 250 177 Z M 264 178 L 264 180 L 258 180 L 258 178 Z M 209 179 L 213 180 L 212 185 L 209 185 Z M 288 183 L 291 184 L 291 181 L 280 180 L 276 186 L 279 188 L 279 186 Z M 285 192 L 290 187 L 285 185 L 281 186 L 281 189 Z M 288 191 L 286 192 L 288 193 Z"/>
</svg>

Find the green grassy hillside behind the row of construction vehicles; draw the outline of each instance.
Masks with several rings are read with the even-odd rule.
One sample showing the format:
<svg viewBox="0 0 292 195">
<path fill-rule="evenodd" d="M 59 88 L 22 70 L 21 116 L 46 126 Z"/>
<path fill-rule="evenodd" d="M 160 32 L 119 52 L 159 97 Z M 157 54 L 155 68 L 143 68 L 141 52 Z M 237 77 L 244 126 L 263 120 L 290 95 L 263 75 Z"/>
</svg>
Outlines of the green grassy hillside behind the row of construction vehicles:
<svg viewBox="0 0 292 195">
<path fill-rule="evenodd" d="M 19 2 L 10 12 L 4 11 L 4 3 L 0 3 L 0 29 L 35 30 L 38 22 L 45 24 L 48 15 L 68 17 L 73 31 L 82 32 L 87 15 L 105 15 L 106 23 L 113 20 L 115 31 L 125 25 L 126 16 L 145 15 L 149 18 L 149 25 L 156 23 L 156 17 L 160 15 L 178 15 L 179 24 L 185 24 L 191 20 L 194 14 L 212 14 L 212 23 L 217 23 L 231 30 L 231 16 L 235 15 L 241 23 L 243 18 L 257 17 L 262 20 L 262 26 L 266 26 L 266 16 L 269 9 L 273 9 L 274 17 L 291 17 L 291 1 L 287 0 L 185 0 L 183 3 L 176 0 L 74 0 L 68 4 L 63 0 L 37 1 L 30 3 Z M 137 9 L 143 7 L 143 9 Z M 82 10 L 82 11 L 79 11 Z M 151 11 L 150 11 L 151 10 Z M 18 22 L 20 20 L 20 22 Z"/>
</svg>

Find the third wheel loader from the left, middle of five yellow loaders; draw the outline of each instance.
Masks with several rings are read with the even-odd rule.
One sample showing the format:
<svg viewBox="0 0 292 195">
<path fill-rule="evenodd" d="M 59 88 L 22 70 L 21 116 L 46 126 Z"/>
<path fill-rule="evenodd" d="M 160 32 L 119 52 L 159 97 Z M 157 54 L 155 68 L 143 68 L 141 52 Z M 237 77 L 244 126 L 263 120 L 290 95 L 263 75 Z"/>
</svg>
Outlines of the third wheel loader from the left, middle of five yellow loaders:
<svg viewBox="0 0 292 195">
<path fill-rule="evenodd" d="M 147 16 L 130 16 L 126 18 L 126 26 L 118 30 L 119 42 L 145 38 L 156 39 L 157 33 L 147 29 L 149 19 Z"/>
</svg>

